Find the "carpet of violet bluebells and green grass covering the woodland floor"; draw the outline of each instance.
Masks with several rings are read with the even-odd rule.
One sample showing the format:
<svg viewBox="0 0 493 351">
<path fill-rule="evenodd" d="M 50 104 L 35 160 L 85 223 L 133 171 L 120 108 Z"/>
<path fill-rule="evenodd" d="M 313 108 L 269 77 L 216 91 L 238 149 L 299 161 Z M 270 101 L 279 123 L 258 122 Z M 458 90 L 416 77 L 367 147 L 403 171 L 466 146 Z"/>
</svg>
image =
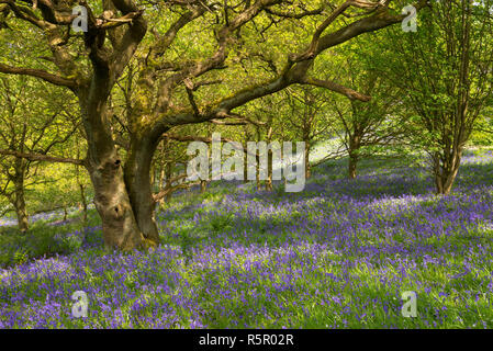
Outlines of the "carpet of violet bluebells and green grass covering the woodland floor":
<svg viewBox="0 0 493 351">
<path fill-rule="evenodd" d="M 148 253 L 105 252 L 99 226 L 60 234 L 80 247 L 0 270 L 0 328 L 493 328 L 492 151 L 464 156 L 449 196 L 394 163 L 349 181 L 327 162 L 300 193 L 184 192 Z"/>
</svg>

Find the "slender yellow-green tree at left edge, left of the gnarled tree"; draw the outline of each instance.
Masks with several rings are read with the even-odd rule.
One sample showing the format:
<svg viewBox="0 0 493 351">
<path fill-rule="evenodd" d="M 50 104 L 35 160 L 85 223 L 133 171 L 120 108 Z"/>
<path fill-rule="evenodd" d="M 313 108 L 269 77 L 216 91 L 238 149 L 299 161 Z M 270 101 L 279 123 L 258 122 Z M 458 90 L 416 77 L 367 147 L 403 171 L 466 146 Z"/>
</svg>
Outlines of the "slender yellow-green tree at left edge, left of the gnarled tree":
<svg viewBox="0 0 493 351">
<path fill-rule="evenodd" d="M 66 143 L 76 132 L 66 114 L 69 109 L 47 89 L 46 83 L 33 82 L 26 77 L 0 77 L 0 194 L 11 203 L 18 218 L 19 229 L 29 229 L 25 189 L 34 185 L 33 173 L 38 160 L 16 157 L 38 152 L 45 155 Z M 40 90 L 53 100 L 47 103 Z"/>
</svg>

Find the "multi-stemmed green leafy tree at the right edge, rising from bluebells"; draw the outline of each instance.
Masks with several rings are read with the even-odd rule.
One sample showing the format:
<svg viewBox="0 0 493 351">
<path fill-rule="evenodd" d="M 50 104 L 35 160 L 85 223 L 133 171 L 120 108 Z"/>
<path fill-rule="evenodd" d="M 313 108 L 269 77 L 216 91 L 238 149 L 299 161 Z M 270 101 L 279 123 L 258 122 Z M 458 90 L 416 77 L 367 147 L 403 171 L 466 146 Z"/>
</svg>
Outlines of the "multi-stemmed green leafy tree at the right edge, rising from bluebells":
<svg viewBox="0 0 493 351">
<path fill-rule="evenodd" d="M 438 194 L 450 193 L 464 146 L 491 101 L 492 7 L 491 0 L 434 1 L 416 33 L 390 31 L 377 49 L 380 73 L 405 92 L 414 143 L 429 155 Z"/>
</svg>

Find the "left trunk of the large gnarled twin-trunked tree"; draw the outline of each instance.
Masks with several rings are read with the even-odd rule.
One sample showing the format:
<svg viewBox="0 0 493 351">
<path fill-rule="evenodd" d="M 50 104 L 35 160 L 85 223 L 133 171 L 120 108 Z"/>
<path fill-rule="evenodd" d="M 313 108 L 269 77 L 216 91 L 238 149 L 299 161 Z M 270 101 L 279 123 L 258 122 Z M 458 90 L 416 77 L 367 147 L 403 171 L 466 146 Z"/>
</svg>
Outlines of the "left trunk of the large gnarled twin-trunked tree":
<svg viewBox="0 0 493 351">
<path fill-rule="evenodd" d="M 104 79 L 97 79 L 79 97 L 88 138 L 86 166 L 94 189 L 94 205 L 101 217 L 107 249 L 145 249 L 149 245 L 135 219 L 124 181 L 122 158 L 108 123 L 109 89 L 105 83 Z"/>
</svg>

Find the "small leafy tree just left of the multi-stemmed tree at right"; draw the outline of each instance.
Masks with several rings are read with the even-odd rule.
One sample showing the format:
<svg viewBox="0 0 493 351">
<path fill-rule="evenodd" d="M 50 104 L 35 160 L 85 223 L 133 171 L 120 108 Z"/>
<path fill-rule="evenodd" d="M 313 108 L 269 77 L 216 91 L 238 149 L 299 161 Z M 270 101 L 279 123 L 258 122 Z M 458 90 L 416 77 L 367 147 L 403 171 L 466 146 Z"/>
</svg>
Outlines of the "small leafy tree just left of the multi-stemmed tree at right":
<svg viewBox="0 0 493 351">
<path fill-rule="evenodd" d="M 338 136 L 348 156 L 349 179 L 357 177 L 359 160 L 373 156 L 377 148 L 403 144 L 406 139 L 404 92 L 371 69 L 369 42 L 378 39 L 379 33 L 373 33 L 371 37 L 348 43 L 338 52 L 343 57 L 338 67 L 346 83 L 373 98 L 367 103 L 339 99 L 334 94 L 329 98 L 336 120 L 330 132 Z"/>
</svg>

